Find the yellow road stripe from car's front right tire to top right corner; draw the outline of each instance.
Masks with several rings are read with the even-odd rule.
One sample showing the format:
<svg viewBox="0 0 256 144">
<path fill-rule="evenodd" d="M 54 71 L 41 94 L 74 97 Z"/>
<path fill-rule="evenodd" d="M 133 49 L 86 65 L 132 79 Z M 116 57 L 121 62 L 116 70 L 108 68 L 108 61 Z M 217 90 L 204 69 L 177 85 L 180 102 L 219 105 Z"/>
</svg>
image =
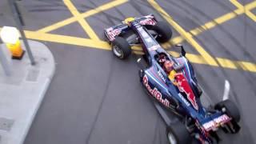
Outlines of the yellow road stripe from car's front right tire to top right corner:
<svg viewBox="0 0 256 144">
<path fill-rule="evenodd" d="M 250 2 L 244 6 L 246 10 L 252 10 L 256 8 L 256 1 Z M 210 22 L 206 22 L 202 26 L 198 26 L 197 28 L 194 28 L 193 30 L 190 30 L 190 34 L 193 36 L 197 36 L 198 34 L 201 34 L 202 32 L 206 30 L 210 30 L 214 28 L 215 26 L 221 25 L 224 22 L 230 21 L 233 18 L 236 18 L 238 15 L 244 14 L 245 11 L 242 10 L 241 8 L 238 8 L 237 10 L 231 11 L 230 13 L 224 14 L 218 18 L 214 18 L 214 20 Z M 252 16 L 253 17 L 253 16 Z M 173 39 L 177 39 L 178 41 L 173 41 Z M 169 42 L 166 42 L 167 46 L 170 46 L 168 43 L 172 43 L 173 45 L 176 45 L 178 43 L 181 43 L 184 41 L 184 38 L 181 36 L 172 38 Z"/>
</svg>

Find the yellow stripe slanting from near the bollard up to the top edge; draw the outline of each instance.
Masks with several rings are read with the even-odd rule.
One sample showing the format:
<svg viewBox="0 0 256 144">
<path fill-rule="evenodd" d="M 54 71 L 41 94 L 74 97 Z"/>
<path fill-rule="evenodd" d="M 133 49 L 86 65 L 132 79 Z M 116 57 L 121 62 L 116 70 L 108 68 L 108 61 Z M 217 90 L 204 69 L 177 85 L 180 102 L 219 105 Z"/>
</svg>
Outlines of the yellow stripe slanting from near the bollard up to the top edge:
<svg viewBox="0 0 256 144">
<path fill-rule="evenodd" d="M 85 13 L 82 13 L 80 16 L 82 18 L 87 18 L 87 17 L 90 17 L 91 15 L 98 14 L 98 13 L 104 11 L 104 10 L 111 9 L 114 6 L 122 5 L 123 3 L 128 2 L 128 1 L 129 0 L 115 0 L 113 2 L 108 2 L 108 3 L 106 3 L 102 6 L 98 6 L 97 8 L 95 8 L 93 10 L 88 10 Z M 47 32 L 50 32 L 52 30 L 56 30 L 56 29 L 58 29 L 62 26 L 66 26 L 66 25 L 68 25 L 72 22 L 76 22 L 76 18 L 74 18 L 74 17 L 66 18 L 65 20 L 63 20 L 61 22 L 54 23 L 51 26 L 46 26 L 45 28 L 42 28 L 41 30 L 38 30 L 38 32 L 47 33 Z"/>
</svg>

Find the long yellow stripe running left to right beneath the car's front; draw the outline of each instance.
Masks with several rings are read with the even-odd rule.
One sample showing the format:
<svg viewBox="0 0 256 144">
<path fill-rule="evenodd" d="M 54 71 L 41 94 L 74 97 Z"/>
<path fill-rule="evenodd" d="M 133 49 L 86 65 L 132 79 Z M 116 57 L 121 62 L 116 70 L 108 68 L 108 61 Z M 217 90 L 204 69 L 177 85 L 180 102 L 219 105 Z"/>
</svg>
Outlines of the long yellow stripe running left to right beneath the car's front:
<svg viewBox="0 0 256 144">
<path fill-rule="evenodd" d="M 0 30 L 1 29 L 2 28 L 0 27 Z M 40 33 L 37 31 L 30 31 L 30 30 L 25 30 L 25 34 L 26 34 L 26 38 L 30 38 L 38 41 L 57 42 L 62 44 L 74 45 L 74 46 L 86 46 L 86 47 L 100 49 L 100 50 L 111 50 L 109 43 L 101 40 L 77 38 L 77 37 L 64 36 L 64 35 L 58 35 L 58 34 L 45 34 L 45 33 Z M 139 46 L 133 46 L 133 49 L 134 50 L 138 49 L 140 51 L 136 51 L 136 53 L 143 54 L 141 48 L 139 49 L 138 47 Z M 168 52 L 172 54 L 174 57 L 177 57 L 179 55 L 177 52 L 174 52 L 174 51 L 168 51 Z M 186 58 L 188 58 L 190 62 L 193 62 L 193 63 L 209 65 L 204 60 L 204 58 L 202 58 L 201 55 L 187 53 Z M 216 58 L 216 59 L 220 63 L 220 66 L 224 68 L 230 68 L 230 69 L 241 68 L 242 70 L 256 72 L 256 64 L 252 62 L 231 61 L 230 59 L 226 59 L 226 58 Z"/>
</svg>

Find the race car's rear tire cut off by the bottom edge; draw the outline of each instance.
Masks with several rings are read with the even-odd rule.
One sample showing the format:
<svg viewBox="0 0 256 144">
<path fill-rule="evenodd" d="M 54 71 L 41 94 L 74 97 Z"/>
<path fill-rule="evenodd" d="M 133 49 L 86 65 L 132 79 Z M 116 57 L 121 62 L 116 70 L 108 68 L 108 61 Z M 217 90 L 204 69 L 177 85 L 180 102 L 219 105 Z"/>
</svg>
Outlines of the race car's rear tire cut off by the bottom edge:
<svg viewBox="0 0 256 144">
<path fill-rule="evenodd" d="M 176 122 L 167 126 L 166 136 L 169 144 L 187 144 L 192 142 L 192 137 L 182 122 Z"/>
</svg>

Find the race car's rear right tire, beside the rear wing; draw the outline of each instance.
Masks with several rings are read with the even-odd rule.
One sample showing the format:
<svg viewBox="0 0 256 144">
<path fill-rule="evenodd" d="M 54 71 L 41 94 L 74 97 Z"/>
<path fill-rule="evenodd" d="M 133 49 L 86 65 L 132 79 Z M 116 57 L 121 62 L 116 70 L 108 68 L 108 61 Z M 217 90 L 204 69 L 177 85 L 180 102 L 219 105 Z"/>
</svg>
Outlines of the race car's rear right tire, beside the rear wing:
<svg viewBox="0 0 256 144">
<path fill-rule="evenodd" d="M 218 102 L 215 106 L 215 110 L 221 110 L 222 108 L 226 108 L 226 114 L 228 114 L 231 118 L 234 118 L 235 122 L 240 121 L 240 113 L 238 107 L 235 106 L 234 102 L 230 101 L 230 99 L 226 99 L 225 101 Z"/>
</svg>

